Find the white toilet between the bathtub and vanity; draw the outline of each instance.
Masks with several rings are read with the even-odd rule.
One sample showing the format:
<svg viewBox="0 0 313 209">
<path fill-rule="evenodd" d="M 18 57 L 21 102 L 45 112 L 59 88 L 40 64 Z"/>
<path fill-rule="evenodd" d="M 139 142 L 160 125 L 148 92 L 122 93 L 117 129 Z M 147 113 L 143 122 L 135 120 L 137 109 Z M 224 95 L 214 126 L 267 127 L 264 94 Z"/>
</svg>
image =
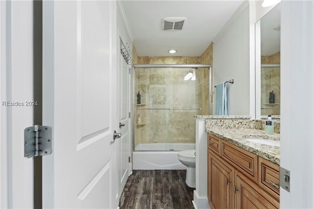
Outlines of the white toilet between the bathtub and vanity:
<svg viewBox="0 0 313 209">
<path fill-rule="evenodd" d="M 187 166 L 186 184 L 189 187 L 196 187 L 196 150 L 183 150 L 177 154 L 180 163 Z"/>
</svg>

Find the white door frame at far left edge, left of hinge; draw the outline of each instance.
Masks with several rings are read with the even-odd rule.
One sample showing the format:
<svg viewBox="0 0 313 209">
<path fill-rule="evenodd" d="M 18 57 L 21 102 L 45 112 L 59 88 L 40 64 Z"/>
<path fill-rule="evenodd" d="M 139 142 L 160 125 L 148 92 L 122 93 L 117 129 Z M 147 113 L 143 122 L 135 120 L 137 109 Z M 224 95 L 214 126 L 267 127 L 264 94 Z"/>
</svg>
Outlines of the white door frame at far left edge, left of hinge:
<svg viewBox="0 0 313 209">
<path fill-rule="evenodd" d="M 33 125 L 32 1 L 0 1 L 0 208 L 33 208 L 33 159 L 24 129 Z"/>
</svg>

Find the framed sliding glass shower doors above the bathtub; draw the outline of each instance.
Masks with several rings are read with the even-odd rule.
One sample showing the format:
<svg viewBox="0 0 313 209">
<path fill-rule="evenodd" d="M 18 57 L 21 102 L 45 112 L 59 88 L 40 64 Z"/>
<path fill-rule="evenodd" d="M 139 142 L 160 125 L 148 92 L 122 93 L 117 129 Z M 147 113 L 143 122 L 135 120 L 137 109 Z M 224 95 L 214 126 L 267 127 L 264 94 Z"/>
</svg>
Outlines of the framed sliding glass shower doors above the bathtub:
<svg viewBox="0 0 313 209">
<path fill-rule="evenodd" d="M 134 151 L 185 150 L 209 109 L 209 65 L 134 65 Z M 206 76 L 204 76 L 206 75 Z"/>
</svg>

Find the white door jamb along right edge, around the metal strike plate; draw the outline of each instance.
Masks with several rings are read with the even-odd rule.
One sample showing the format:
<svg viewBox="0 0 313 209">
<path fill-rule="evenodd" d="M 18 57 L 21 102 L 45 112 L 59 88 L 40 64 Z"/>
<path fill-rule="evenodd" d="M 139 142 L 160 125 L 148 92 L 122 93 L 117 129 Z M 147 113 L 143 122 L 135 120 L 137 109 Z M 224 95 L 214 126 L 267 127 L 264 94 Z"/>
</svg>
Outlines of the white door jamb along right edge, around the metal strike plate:
<svg viewBox="0 0 313 209">
<path fill-rule="evenodd" d="M 313 1 L 281 2 L 281 208 L 313 208 Z"/>
</svg>

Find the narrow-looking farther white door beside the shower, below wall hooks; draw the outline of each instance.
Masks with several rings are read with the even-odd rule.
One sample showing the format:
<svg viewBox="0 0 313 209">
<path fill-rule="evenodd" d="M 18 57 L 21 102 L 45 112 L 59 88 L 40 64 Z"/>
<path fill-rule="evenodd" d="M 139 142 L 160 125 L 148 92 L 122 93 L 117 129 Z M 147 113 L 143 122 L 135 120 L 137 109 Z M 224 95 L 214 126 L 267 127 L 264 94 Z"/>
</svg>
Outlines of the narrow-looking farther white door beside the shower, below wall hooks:
<svg viewBox="0 0 313 209">
<path fill-rule="evenodd" d="M 120 39 L 118 40 L 120 42 Z M 119 45 L 120 46 L 120 43 Z M 118 54 L 118 119 L 121 123 L 119 132 L 122 137 L 117 140 L 117 165 L 118 165 L 118 197 L 123 192 L 129 176 L 129 163 L 130 163 L 130 65 L 128 65 L 123 56 Z"/>
</svg>

